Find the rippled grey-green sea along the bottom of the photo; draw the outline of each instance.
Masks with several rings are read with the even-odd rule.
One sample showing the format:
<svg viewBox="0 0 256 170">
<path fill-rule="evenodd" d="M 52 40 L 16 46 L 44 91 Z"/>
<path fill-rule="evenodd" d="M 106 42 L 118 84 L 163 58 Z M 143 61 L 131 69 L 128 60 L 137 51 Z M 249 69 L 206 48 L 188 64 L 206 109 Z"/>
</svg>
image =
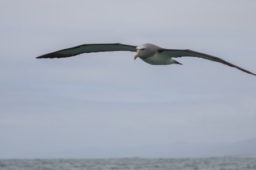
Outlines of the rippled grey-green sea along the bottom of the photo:
<svg viewBox="0 0 256 170">
<path fill-rule="evenodd" d="M 1 170 L 245 170 L 256 169 L 256 158 L 173 159 L 0 159 Z"/>
</svg>

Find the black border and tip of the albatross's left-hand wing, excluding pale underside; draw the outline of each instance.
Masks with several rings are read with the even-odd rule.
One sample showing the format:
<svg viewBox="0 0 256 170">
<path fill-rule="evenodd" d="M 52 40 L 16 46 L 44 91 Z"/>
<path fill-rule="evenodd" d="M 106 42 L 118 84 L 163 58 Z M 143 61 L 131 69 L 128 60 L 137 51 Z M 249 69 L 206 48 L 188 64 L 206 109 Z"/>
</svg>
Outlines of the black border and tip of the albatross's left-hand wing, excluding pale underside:
<svg viewBox="0 0 256 170">
<path fill-rule="evenodd" d="M 87 45 L 122 45 L 122 46 L 129 46 L 131 48 L 135 48 L 135 50 L 131 51 L 131 52 L 136 52 L 136 47 L 137 47 L 137 46 L 134 46 L 134 45 L 127 45 L 127 44 L 121 44 L 121 43 L 82 44 L 82 45 L 74 46 L 74 47 L 71 47 L 71 48 L 61 49 L 61 50 L 58 50 L 56 52 L 44 54 L 44 55 L 36 57 L 36 58 L 37 59 L 39 59 L 39 58 L 65 58 L 65 57 L 77 56 L 77 55 L 82 54 L 82 53 L 77 53 L 75 55 L 64 55 L 64 54 L 57 54 L 57 53 L 62 52 L 64 50 L 76 49 L 76 48 L 80 48 L 81 46 L 87 46 Z M 108 50 L 101 50 L 101 51 L 98 51 L 98 52 L 108 52 Z M 92 53 L 92 52 L 83 52 L 83 53 Z"/>
</svg>

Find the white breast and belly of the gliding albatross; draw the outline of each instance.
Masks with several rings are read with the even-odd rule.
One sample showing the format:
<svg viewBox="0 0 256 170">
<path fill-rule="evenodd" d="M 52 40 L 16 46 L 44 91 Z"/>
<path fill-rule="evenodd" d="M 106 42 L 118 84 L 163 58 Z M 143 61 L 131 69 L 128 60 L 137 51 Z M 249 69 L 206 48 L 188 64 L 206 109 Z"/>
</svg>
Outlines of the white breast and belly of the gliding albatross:
<svg viewBox="0 0 256 170">
<path fill-rule="evenodd" d="M 171 65 L 172 63 L 174 63 L 174 59 L 165 55 L 161 55 L 159 53 L 145 59 L 143 58 L 142 60 L 151 65 Z"/>
</svg>

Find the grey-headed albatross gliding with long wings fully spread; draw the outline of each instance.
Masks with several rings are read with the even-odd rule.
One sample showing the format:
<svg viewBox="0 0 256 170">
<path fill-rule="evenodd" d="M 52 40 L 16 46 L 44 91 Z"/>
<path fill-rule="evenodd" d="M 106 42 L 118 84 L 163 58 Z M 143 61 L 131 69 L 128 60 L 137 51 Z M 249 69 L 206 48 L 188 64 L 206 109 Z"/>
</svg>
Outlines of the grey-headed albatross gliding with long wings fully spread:
<svg viewBox="0 0 256 170">
<path fill-rule="evenodd" d="M 196 52 L 189 49 L 166 49 L 160 48 L 154 44 L 142 44 L 139 46 L 134 45 L 126 45 L 120 43 L 113 44 L 82 44 L 79 46 L 75 46 L 72 48 L 58 50 L 56 52 L 44 54 L 42 56 L 36 58 L 65 58 L 77 56 L 82 53 L 96 53 L 96 52 L 114 52 L 114 51 L 129 51 L 136 52 L 134 59 L 141 58 L 144 62 L 149 63 L 151 65 L 171 65 L 171 64 L 179 64 L 174 58 L 179 57 L 199 57 L 204 59 L 209 59 L 210 61 L 220 62 L 224 65 L 228 65 L 230 67 L 235 67 L 238 70 L 241 70 L 245 73 L 255 75 L 250 71 L 242 69 L 236 65 L 233 65 L 230 62 L 225 61 L 224 59 L 210 56 L 209 54 L 204 54 L 200 52 Z"/>
</svg>

